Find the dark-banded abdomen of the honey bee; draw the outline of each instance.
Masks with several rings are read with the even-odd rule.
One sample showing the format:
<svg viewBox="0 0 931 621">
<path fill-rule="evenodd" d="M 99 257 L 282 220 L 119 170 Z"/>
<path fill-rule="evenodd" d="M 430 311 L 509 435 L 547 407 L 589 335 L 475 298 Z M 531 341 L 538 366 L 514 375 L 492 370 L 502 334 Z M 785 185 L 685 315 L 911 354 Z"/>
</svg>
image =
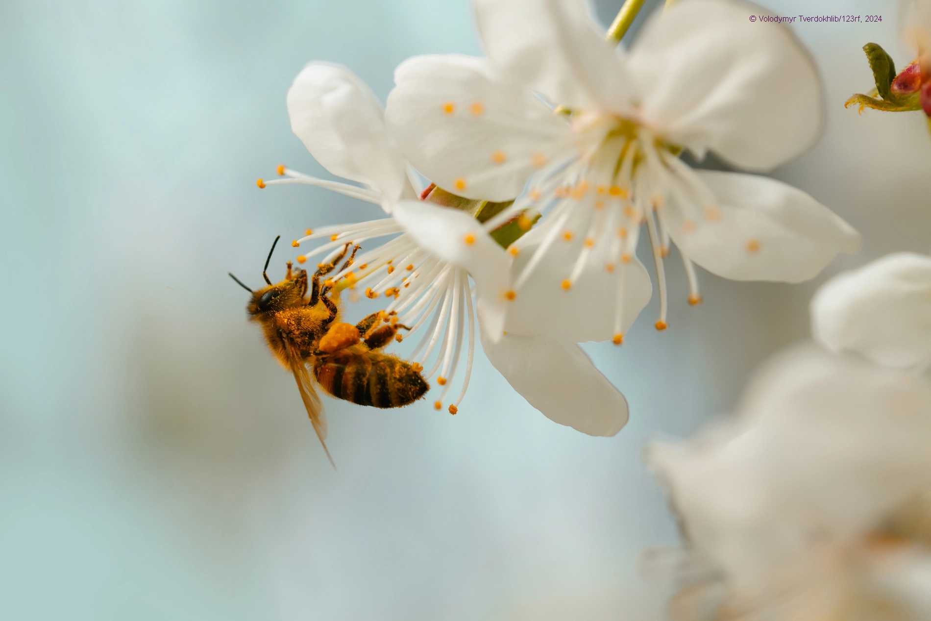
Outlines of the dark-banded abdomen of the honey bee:
<svg viewBox="0 0 931 621">
<path fill-rule="evenodd" d="M 314 375 L 333 397 L 376 408 L 399 408 L 430 388 L 411 363 L 365 345 L 315 358 Z"/>
</svg>

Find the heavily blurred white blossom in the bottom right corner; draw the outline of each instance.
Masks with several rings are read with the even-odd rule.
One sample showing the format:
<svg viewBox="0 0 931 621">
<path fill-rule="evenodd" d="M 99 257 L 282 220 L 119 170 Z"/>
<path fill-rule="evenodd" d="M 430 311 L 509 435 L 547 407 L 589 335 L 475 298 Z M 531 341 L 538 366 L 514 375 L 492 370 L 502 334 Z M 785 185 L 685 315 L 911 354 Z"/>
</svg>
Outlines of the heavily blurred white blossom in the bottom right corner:
<svg viewBox="0 0 931 621">
<path fill-rule="evenodd" d="M 690 546 L 678 618 L 929 618 L 929 438 L 931 386 L 806 346 L 735 420 L 655 444 Z"/>
</svg>

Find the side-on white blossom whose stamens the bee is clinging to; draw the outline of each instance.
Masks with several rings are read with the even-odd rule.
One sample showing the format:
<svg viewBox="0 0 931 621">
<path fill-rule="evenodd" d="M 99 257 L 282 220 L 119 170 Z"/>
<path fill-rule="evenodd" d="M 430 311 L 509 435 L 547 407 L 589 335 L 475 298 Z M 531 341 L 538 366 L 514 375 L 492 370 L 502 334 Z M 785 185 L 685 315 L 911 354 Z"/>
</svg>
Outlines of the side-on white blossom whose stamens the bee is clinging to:
<svg viewBox="0 0 931 621">
<path fill-rule="evenodd" d="M 572 344 L 574 350 L 570 350 L 569 345 L 551 344 L 546 336 L 520 342 L 505 336 L 504 309 L 513 298 L 506 251 L 473 215 L 429 202 L 432 186 L 422 193 L 426 200 L 415 200 L 417 178 L 387 135 L 379 102 L 355 74 L 338 65 L 310 63 L 288 92 L 288 112 L 294 133 L 324 168 L 368 187 L 321 180 L 283 166 L 278 169 L 281 179 L 260 180 L 259 185 L 317 185 L 381 205 L 388 212 L 389 217 L 380 220 L 308 230 L 292 245 L 327 239 L 297 258 L 305 263 L 326 253 L 329 258 L 347 243 L 390 237 L 363 251 L 355 263 L 330 279 L 338 289 L 364 288 L 370 298 L 390 298 L 385 311 L 397 312 L 398 322 L 411 328 L 405 338 L 424 331 L 410 359 L 425 367 L 425 378 L 437 375 L 437 383 L 443 386 L 434 403 L 438 410 L 452 385 L 464 344 L 465 377 L 450 412 L 457 412 L 466 394 L 475 351 L 472 277 L 482 341 L 492 364 L 511 385 L 562 425 L 590 435 L 617 433 L 627 422 L 627 402 L 577 345 Z M 527 307 L 526 311 L 546 313 L 548 309 Z M 559 398 L 554 398 L 555 392 Z"/>
</svg>

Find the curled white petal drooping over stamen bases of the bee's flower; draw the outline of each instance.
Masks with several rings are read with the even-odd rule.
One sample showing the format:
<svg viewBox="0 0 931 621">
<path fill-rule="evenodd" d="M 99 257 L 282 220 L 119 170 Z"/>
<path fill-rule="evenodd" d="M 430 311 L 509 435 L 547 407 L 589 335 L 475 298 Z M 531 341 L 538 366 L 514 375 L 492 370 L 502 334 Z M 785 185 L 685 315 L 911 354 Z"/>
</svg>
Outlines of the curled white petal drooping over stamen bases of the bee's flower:
<svg viewBox="0 0 931 621">
<path fill-rule="evenodd" d="M 404 200 L 395 217 L 425 250 L 465 269 L 475 280 L 481 331 L 501 338 L 510 284 L 510 259 L 478 220 L 465 211 Z"/>
</svg>

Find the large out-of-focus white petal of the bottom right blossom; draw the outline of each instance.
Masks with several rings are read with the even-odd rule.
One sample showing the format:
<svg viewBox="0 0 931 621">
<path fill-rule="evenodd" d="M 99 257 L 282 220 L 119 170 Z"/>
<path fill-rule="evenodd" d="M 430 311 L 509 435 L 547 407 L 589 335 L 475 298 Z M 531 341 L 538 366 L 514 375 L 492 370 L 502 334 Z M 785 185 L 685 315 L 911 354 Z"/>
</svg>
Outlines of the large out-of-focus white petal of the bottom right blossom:
<svg viewBox="0 0 931 621">
<path fill-rule="evenodd" d="M 757 373 L 739 420 L 654 447 L 650 461 L 695 545 L 735 588 L 764 589 L 813 559 L 812 533 L 861 541 L 924 488 L 928 412 L 920 380 L 796 348 Z"/>
</svg>

